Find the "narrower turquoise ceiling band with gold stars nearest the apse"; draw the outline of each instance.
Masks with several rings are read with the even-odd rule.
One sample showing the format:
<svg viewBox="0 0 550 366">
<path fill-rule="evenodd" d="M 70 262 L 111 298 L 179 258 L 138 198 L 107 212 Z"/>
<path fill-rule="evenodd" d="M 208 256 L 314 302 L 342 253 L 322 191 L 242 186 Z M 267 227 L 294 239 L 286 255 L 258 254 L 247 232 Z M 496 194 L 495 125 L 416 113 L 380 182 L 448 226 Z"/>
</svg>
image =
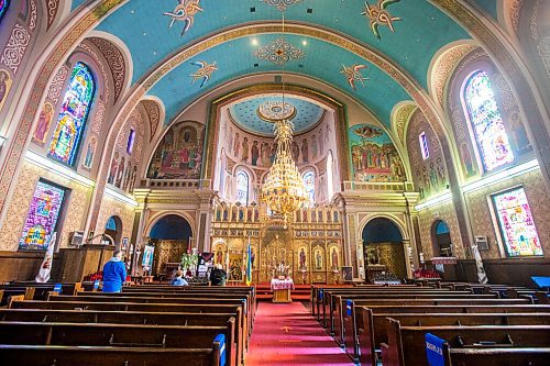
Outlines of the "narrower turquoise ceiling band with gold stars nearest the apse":
<svg viewBox="0 0 550 366">
<path fill-rule="evenodd" d="M 248 31 L 248 29 L 244 29 Z M 235 36 L 238 36 L 235 30 Z M 270 44 L 277 38 L 278 34 L 260 34 L 255 38 L 258 44 Z M 353 95 L 363 106 L 375 114 L 375 117 L 386 126 L 389 126 L 389 115 L 393 106 L 402 100 L 410 99 L 410 96 L 398 82 L 394 80 L 386 71 L 377 66 L 367 63 L 364 58 L 336 46 L 332 42 L 326 42 L 316 37 L 305 37 L 304 35 L 287 34 L 286 40 L 292 44 L 300 44 L 300 41 L 306 38 L 308 46 L 316 51 L 310 51 L 308 60 L 292 60 L 285 66 L 287 73 L 296 75 L 304 75 L 315 79 L 324 80 L 326 82 L 334 86 L 337 89 Z M 198 47 L 200 49 L 200 47 Z M 233 49 L 250 49 L 246 63 L 235 63 L 228 58 L 219 58 L 220 55 L 231 55 Z M 193 48 L 191 48 L 193 49 Z M 251 40 L 246 35 L 241 35 L 234 40 L 223 42 L 219 45 L 191 54 L 189 51 L 187 59 L 178 59 L 178 65 L 172 70 L 162 75 L 162 77 L 152 86 L 148 91 L 150 95 L 156 96 L 162 99 L 166 107 L 167 121 L 172 120 L 177 113 L 191 103 L 194 100 L 199 99 L 202 95 L 216 86 L 223 85 L 230 80 L 239 79 L 240 77 L 255 74 L 255 73 L 278 73 L 282 70 L 280 66 L 274 65 L 270 62 L 261 63 L 253 56 L 253 48 L 251 47 Z M 183 52 L 185 55 L 186 53 Z M 330 59 L 326 55 L 334 55 Z M 218 60 L 217 60 L 218 59 Z M 226 59 L 226 62 L 220 60 Z M 209 80 L 200 87 L 199 82 L 193 82 L 193 77 L 197 71 L 197 66 L 194 62 L 206 62 L 213 64 L 218 70 L 213 71 Z M 257 67 L 254 67 L 254 63 Z M 304 64 L 302 64 L 304 63 Z M 167 65 L 175 65 L 172 60 Z M 322 64 L 323 68 L 308 69 L 307 64 Z M 356 85 L 356 90 L 349 85 L 348 79 L 341 74 L 342 65 L 366 65 L 363 73 L 370 80 L 365 81 L 365 87 Z M 166 68 L 162 67 L 161 70 L 165 71 Z M 309 71 L 307 71 L 309 70 Z M 358 82 L 359 84 L 359 82 Z M 147 82 L 144 84 L 147 86 Z"/>
</svg>

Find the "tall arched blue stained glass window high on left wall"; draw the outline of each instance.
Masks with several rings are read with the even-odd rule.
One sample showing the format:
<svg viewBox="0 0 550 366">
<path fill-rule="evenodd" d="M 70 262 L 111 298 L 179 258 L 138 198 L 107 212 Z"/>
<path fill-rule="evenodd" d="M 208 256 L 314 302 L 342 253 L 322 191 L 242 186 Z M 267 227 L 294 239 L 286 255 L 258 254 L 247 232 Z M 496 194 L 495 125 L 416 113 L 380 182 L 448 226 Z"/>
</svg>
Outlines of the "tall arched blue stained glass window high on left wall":
<svg viewBox="0 0 550 366">
<path fill-rule="evenodd" d="M 75 163 L 95 89 L 90 69 L 85 64 L 77 63 L 63 97 L 57 125 L 50 145 L 51 157 L 69 165 Z"/>
</svg>

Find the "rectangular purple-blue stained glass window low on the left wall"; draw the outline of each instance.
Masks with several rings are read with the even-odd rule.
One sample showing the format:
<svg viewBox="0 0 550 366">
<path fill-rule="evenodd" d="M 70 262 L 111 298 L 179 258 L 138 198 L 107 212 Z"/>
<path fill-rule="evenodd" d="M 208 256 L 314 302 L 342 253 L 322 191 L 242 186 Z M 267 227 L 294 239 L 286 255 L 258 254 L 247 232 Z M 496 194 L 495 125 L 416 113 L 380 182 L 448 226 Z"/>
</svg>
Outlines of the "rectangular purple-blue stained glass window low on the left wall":
<svg viewBox="0 0 550 366">
<path fill-rule="evenodd" d="M 47 249 L 64 197 L 65 189 L 38 181 L 19 240 L 20 249 Z"/>
</svg>

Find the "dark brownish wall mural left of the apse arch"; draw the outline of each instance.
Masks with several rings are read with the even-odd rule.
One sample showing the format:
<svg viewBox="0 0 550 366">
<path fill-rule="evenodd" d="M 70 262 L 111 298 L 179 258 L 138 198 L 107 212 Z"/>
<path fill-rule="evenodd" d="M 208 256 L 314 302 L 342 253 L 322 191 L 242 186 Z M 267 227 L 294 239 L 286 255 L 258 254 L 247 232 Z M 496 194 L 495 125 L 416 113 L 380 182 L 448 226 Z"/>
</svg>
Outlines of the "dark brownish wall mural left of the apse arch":
<svg viewBox="0 0 550 366">
<path fill-rule="evenodd" d="M 205 126 L 177 122 L 158 144 L 147 171 L 152 179 L 199 179 Z"/>
</svg>

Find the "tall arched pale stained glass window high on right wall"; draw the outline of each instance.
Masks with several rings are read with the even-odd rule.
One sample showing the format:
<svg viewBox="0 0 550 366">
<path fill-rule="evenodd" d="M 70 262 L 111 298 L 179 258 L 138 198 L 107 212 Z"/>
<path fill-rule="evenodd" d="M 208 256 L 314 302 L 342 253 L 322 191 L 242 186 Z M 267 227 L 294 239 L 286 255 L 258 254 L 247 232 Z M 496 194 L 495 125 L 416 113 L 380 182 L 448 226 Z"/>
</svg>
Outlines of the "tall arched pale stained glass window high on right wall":
<svg viewBox="0 0 550 366">
<path fill-rule="evenodd" d="M 487 73 L 477 71 L 468 80 L 464 100 L 485 171 L 514 162 Z"/>
</svg>

